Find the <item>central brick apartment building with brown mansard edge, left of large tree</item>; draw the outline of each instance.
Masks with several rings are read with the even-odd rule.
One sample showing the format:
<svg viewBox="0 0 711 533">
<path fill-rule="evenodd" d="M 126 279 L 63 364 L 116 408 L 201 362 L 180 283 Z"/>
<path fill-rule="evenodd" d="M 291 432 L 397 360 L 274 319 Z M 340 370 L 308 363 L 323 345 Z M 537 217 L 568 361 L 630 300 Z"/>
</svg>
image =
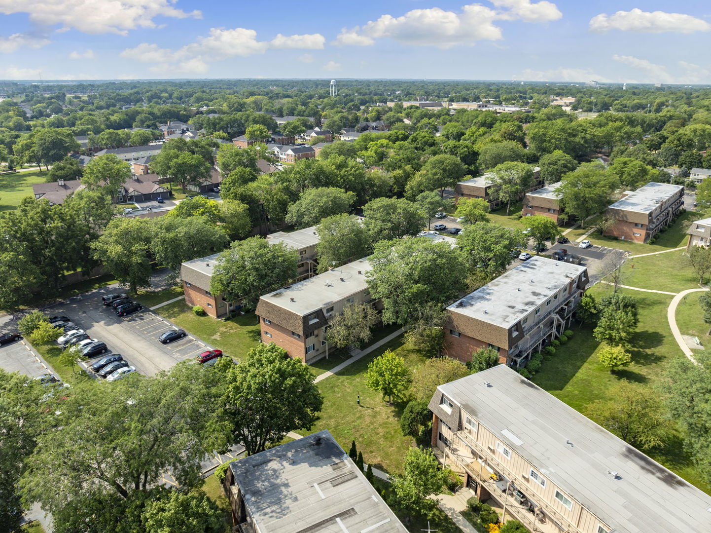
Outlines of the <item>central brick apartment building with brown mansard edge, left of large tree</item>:
<svg viewBox="0 0 711 533">
<path fill-rule="evenodd" d="M 373 302 L 365 273 L 368 258 L 359 259 L 260 297 L 262 342 L 274 342 L 289 357 L 312 363 L 328 357 L 328 320 L 355 302 Z"/>
</svg>

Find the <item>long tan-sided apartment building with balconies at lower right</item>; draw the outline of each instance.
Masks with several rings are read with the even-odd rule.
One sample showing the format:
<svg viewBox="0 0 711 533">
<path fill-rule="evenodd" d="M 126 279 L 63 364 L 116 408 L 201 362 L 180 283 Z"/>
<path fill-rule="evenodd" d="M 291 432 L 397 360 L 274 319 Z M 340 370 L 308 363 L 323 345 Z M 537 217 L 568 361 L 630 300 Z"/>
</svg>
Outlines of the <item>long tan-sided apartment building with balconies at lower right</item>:
<svg viewBox="0 0 711 533">
<path fill-rule="evenodd" d="M 533 533 L 711 531 L 711 497 L 500 364 L 437 388 L 432 447 Z"/>
</svg>

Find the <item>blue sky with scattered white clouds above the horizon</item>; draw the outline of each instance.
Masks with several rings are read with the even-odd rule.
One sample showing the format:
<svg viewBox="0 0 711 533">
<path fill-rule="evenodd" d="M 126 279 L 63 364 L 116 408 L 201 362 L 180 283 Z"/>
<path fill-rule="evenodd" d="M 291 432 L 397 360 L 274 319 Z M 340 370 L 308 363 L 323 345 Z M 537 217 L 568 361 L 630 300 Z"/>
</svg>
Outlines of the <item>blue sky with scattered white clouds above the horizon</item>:
<svg viewBox="0 0 711 533">
<path fill-rule="evenodd" d="M 711 83 L 711 2 L 0 0 L 0 79 Z"/>
</svg>

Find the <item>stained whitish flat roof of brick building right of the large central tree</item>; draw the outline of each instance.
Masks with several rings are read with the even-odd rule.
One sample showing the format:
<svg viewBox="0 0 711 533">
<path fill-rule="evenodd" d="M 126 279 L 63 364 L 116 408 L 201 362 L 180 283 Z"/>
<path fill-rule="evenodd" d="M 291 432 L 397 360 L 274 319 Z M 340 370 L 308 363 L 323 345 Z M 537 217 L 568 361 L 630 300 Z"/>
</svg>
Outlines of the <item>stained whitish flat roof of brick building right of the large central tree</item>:
<svg viewBox="0 0 711 533">
<path fill-rule="evenodd" d="M 584 266 L 534 256 L 447 310 L 508 328 L 585 270 Z"/>
</svg>

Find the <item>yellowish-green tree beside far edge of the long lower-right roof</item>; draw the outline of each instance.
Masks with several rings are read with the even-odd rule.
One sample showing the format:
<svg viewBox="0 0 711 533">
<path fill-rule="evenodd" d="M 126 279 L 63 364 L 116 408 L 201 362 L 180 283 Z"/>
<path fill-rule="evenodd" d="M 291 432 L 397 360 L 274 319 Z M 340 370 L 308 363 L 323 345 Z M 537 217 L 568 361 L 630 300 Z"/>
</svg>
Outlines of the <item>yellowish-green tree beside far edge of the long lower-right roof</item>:
<svg viewBox="0 0 711 533">
<path fill-rule="evenodd" d="M 665 443 L 671 423 L 655 391 L 621 381 L 609 391 L 609 397 L 589 403 L 585 414 L 639 450 Z"/>
</svg>

